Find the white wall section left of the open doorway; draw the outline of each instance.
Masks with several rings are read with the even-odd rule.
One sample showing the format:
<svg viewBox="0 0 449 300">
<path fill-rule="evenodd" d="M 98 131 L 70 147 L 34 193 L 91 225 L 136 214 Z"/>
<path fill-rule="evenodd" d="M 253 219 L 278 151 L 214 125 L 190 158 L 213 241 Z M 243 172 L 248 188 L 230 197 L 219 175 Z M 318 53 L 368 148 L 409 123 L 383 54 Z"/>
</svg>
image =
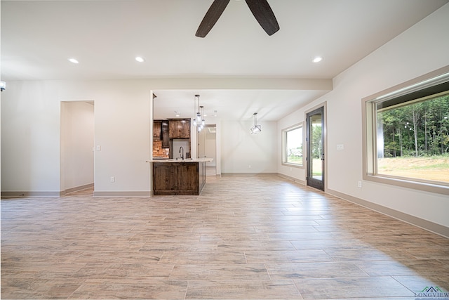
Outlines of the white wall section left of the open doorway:
<svg viewBox="0 0 449 300">
<path fill-rule="evenodd" d="M 60 103 L 48 81 L 12 82 L 1 97 L 1 188 L 60 191 Z"/>
</svg>

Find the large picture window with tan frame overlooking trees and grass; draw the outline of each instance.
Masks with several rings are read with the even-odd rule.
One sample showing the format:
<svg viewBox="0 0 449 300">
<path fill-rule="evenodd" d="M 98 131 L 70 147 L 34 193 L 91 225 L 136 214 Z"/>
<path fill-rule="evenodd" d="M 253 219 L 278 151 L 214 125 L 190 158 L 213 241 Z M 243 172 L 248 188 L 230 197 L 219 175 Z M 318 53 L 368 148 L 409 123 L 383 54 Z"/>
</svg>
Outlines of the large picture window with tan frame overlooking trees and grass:
<svg viewBox="0 0 449 300">
<path fill-rule="evenodd" d="M 363 100 L 364 178 L 449 195 L 449 72 Z"/>
</svg>

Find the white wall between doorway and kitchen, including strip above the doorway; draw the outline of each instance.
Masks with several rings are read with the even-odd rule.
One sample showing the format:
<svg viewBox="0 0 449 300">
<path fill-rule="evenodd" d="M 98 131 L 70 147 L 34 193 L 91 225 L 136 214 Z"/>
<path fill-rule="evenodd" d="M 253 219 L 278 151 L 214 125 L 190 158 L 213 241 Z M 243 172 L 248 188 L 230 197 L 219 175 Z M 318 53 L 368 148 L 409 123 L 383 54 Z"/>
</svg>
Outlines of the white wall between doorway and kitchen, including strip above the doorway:
<svg viewBox="0 0 449 300">
<path fill-rule="evenodd" d="M 146 81 L 68 81 L 60 98 L 95 100 L 95 195 L 149 195 L 152 92 Z M 110 181 L 111 177 L 115 182 Z"/>
</svg>

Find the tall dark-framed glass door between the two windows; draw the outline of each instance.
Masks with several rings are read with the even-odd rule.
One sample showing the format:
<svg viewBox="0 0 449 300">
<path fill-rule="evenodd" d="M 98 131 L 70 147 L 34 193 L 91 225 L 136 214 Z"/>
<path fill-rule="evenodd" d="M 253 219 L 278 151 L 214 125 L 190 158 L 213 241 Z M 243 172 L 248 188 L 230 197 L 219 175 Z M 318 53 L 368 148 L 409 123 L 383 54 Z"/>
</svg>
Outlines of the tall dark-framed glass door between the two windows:
<svg viewBox="0 0 449 300">
<path fill-rule="evenodd" d="M 324 190 L 324 107 L 307 113 L 307 185 Z"/>
</svg>

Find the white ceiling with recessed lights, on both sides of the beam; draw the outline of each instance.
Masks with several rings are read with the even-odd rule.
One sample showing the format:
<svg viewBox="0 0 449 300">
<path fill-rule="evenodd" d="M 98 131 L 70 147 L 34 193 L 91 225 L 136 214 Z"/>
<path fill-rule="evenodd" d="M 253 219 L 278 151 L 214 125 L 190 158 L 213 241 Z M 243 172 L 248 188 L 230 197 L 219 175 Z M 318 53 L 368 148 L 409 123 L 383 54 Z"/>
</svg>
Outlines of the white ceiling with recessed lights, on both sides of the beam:
<svg viewBox="0 0 449 300">
<path fill-rule="evenodd" d="M 448 3 L 269 0 L 281 27 L 269 37 L 245 1 L 231 0 L 208 36 L 195 37 L 212 2 L 1 0 L 1 79 L 332 79 Z M 311 62 L 315 56 L 321 63 Z M 80 63 L 69 63 L 72 57 Z M 327 92 L 155 90 L 155 117 L 174 117 L 174 110 L 192 117 L 199 93 L 208 115 L 248 119 L 258 110 L 276 120 Z"/>
</svg>

